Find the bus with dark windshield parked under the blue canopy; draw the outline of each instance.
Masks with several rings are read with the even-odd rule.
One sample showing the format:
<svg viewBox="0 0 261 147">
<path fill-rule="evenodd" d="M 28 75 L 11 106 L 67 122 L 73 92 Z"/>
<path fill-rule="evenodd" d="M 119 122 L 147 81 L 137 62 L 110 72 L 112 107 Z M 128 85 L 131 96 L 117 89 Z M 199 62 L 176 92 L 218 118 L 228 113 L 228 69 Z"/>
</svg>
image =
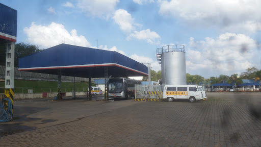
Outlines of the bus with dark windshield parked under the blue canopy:
<svg viewBox="0 0 261 147">
<path fill-rule="evenodd" d="M 135 84 L 140 85 L 141 81 L 125 78 L 109 79 L 109 99 L 131 99 L 135 96 Z"/>
</svg>

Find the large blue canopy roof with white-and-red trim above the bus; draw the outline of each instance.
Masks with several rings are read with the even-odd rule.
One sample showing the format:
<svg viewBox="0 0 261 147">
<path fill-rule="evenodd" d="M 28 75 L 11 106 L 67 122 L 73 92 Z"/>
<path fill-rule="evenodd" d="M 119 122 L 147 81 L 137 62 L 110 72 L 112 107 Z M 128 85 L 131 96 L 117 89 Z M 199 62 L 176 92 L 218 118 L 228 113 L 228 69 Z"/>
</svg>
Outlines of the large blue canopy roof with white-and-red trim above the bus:
<svg viewBox="0 0 261 147">
<path fill-rule="evenodd" d="M 148 67 L 115 51 L 60 44 L 18 59 L 18 70 L 82 78 L 148 76 Z"/>
</svg>

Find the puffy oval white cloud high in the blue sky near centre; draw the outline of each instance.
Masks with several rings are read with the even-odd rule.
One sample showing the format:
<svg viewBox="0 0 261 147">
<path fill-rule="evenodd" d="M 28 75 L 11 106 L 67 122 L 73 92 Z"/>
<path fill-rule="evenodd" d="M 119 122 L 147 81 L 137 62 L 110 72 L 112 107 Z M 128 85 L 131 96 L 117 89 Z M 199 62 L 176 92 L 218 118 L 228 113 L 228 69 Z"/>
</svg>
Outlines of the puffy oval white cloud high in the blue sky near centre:
<svg viewBox="0 0 261 147">
<path fill-rule="evenodd" d="M 113 19 L 123 32 L 129 33 L 135 30 L 135 27 L 133 27 L 134 18 L 126 10 L 119 9 L 115 11 Z"/>
</svg>

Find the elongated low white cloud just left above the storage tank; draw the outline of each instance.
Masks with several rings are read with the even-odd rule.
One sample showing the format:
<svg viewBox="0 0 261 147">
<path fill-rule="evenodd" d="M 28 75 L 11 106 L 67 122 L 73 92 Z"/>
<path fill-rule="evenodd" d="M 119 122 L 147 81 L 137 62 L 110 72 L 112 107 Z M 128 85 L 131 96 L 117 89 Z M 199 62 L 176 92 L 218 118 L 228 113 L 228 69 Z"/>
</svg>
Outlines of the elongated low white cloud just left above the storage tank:
<svg viewBox="0 0 261 147">
<path fill-rule="evenodd" d="M 150 44 L 159 44 L 161 36 L 158 35 L 156 32 L 150 32 L 150 29 L 142 30 L 140 32 L 134 31 L 134 33 L 130 34 L 127 37 L 127 40 L 131 40 L 132 38 L 138 40 L 146 40 Z"/>
</svg>

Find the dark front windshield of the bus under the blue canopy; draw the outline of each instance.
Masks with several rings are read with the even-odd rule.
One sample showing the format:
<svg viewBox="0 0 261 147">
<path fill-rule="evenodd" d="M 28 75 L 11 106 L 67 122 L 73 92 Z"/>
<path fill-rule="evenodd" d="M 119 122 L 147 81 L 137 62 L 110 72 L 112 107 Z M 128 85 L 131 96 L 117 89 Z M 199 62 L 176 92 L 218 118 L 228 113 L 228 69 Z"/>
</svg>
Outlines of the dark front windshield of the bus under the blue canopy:
<svg viewBox="0 0 261 147">
<path fill-rule="evenodd" d="M 110 79 L 109 80 L 109 93 L 120 93 L 123 91 L 123 79 Z"/>
</svg>

